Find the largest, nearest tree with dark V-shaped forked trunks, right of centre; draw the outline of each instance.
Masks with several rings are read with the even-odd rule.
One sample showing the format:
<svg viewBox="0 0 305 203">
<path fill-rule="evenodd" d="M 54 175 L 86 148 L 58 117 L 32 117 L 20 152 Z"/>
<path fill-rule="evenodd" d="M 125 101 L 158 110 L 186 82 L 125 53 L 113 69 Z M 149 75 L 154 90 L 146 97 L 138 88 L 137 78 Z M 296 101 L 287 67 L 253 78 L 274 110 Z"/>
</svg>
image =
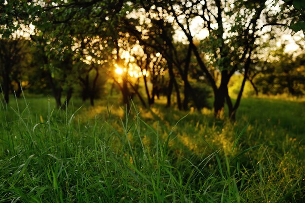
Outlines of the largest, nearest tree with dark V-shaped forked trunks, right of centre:
<svg viewBox="0 0 305 203">
<path fill-rule="evenodd" d="M 174 19 L 184 33 L 198 66 L 210 82 L 214 93 L 214 115 L 220 116 L 227 102 L 229 117 L 234 120 L 250 72 L 253 52 L 258 48 L 259 37 L 264 34 L 262 29 L 282 25 L 275 21 L 278 12 L 264 0 L 140 1 L 139 5 L 144 9 L 155 8 L 158 12 L 165 13 L 167 21 Z M 206 30 L 208 37 L 200 39 L 195 35 L 191 29 L 194 19 L 201 20 L 201 30 Z M 233 105 L 228 83 L 236 72 L 242 73 L 244 79 Z"/>
</svg>

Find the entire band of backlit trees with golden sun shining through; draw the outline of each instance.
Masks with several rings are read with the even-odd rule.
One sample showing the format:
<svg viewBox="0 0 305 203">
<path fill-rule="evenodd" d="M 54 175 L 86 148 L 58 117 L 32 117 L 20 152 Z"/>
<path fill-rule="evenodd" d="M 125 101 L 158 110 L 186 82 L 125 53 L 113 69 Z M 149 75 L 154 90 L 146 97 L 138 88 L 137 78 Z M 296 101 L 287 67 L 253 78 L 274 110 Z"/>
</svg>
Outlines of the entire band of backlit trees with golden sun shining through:
<svg viewBox="0 0 305 203">
<path fill-rule="evenodd" d="M 227 105 L 235 119 L 245 89 L 249 95 L 304 95 L 300 2 L 4 1 L 3 98 L 8 103 L 10 93 L 20 96 L 21 84 L 52 94 L 64 109 L 72 96 L 94 105 L 108 87 L 121 92 L 128 107 L 133 97 L 147 108 L 164 95 L 168 107 L 200 110 L 213 97 L 214 115 Z M 287 51 L 292 41 L 293 53 Z"/>
</svg>

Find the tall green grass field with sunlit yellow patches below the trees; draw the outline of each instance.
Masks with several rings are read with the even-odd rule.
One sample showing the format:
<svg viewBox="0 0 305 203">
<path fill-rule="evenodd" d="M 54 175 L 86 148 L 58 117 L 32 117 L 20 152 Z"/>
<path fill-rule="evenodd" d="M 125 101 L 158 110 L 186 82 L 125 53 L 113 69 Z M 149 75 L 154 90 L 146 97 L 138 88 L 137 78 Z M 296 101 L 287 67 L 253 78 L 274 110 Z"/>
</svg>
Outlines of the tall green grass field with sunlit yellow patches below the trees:
<svg viewBox="0 0 305 203">
<path fill-rule="evenodd" d="M 232 124 L 116 99 L 1 103 L 0 203 L 305 202 L 305 102 L 245 98 Z"/>
</svg>

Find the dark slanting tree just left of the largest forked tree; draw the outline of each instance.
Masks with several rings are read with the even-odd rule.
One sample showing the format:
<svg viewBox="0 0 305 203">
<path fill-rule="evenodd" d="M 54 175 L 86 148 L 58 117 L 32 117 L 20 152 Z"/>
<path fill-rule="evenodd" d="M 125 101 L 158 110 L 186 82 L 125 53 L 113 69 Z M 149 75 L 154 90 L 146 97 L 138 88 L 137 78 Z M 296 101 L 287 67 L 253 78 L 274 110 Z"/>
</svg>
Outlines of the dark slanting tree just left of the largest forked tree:
<svg viewBox="0 0 305 203">
<path fill-rule="evenodd" d="M 178 108 L 187 110 L 189 97 L 194 95 L 188 80 L 188 72 L 191 61 L 191 48 L 173 39 L 174 28 L 172 22 L 167 18 L 168 13 L 160 10 L 153 2 L 139 1 L 139 6 L 144 8 L 144 13 L 139 11 L 138 15 L 132 15 L 125 19 L 126 29 L 137 37 L 142 46 L 150 47 L 160 53 L 167 61 L 167 70 L 170 76 L 168 85 L 168 104 L 171 105 L 171 94 L 173 87 L 176 91 Z M 139 17 L 141 16 L 141 18 Z M 144 18 L 143 17 L 147 16 Z M 187 50 L 187 51 L 186 51 Z M 183 105 L 176 78 L 180 76 L 184 84 Z M 179 79 L 180 79 L 179 78 Z M 193 97 L 193 99 L 195 99 Z"/>
</svg>

